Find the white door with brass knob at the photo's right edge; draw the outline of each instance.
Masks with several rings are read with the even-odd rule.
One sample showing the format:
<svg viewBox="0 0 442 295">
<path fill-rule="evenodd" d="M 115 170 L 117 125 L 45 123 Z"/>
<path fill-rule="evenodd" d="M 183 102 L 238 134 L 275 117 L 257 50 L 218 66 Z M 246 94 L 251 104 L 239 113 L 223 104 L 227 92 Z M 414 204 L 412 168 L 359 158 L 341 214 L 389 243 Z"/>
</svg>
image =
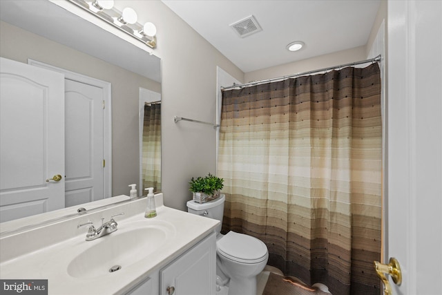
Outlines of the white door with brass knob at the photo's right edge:
<svg viewBox="0 0 442 295">
<path fill-rule="evenodd" d="M 442 1 L 388 1 L 385 261 L 393 294 L 442 294 Z"/>
</svg>

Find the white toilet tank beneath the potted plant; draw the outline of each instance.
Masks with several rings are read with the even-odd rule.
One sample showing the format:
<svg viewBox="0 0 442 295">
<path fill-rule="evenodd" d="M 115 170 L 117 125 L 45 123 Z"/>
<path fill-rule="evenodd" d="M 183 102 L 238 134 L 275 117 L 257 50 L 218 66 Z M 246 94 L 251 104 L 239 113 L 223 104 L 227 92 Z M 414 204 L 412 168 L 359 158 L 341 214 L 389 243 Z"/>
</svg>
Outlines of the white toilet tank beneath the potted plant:
<svg viewBox="0 0 442 295">
<path fill-rule="evenodd" d="M 223 193 L 220 194 L 220 198 L 202 204 L 195 202 L 194 200 L 190 200 L 187 202 L 187 211 L 192 214 L 220 220 L 220 225 L 216 227 L 216 235 L 218 236 L 218 234 L 221 232 L 225 200 L 226 197 Z"/>
</svg>

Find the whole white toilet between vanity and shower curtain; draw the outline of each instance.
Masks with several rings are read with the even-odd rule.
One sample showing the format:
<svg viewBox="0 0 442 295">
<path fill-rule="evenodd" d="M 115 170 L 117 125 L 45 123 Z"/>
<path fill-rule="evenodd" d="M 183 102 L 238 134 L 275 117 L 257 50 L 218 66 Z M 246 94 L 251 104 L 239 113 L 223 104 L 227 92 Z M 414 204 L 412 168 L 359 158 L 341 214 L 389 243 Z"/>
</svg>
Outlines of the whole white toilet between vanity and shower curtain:
<svg viewBox="0 0 442 295">
<path fill-rule="evenodd" d="M 205 203 L 193 200 L 187 202 L 189 213 L 220 220 L 224 216 L 224 194 L 220 198 Z M 220 280 L 226 283 L 229 295 L 256 295 L 256 276 L 262 272 L 269 251 L 264 242 L 246 234 L 229 231 L 220 234 L 221 225 L 216 227 L 216 272 Z M 224 280 L 226 278 L 226 280 Z M 218 286 L 220 288 L 220 286 Z"/>
</svg>

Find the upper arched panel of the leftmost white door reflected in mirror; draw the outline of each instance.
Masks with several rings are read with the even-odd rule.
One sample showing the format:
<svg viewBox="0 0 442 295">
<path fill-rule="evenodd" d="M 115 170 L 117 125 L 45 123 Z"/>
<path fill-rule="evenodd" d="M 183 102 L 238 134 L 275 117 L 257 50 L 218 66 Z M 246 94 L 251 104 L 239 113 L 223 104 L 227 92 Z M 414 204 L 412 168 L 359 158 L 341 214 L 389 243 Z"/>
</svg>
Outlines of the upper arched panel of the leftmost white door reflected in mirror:
<svg viewBox="0 0 442 295">
<path fill-rule="evenodd" d="M 45 87 L 15 75 L 2 75 L 1 84 L 1 189 L 41 185 L 46 177 Z"/>
</svg>

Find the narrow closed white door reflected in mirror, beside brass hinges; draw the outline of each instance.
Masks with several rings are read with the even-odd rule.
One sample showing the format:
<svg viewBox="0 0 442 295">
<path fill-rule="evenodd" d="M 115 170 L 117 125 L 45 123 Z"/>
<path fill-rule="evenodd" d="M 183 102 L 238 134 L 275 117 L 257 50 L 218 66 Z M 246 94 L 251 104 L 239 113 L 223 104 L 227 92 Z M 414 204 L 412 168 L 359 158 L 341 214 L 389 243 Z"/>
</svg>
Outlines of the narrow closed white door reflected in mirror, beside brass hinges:
<svg viewBox="0 0 442 295">
<path fill-rule="evenodd" d="M 103 88 L 66 79 L 66 207 L 103 198 Z"/>
</svg>

